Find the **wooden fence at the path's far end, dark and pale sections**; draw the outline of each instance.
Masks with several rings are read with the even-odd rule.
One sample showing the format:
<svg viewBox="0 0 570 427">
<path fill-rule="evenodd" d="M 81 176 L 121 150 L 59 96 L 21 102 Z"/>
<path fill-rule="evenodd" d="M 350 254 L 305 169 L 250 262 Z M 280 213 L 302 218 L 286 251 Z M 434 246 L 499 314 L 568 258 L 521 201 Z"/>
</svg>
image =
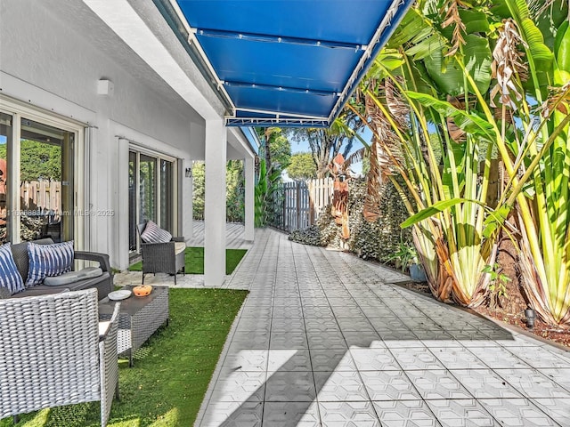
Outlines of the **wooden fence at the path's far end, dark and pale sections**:
<svg viewBox="0 0 570 427">
<path fill-rule="evenodd" d="M 313 225 L 332 197 L 332 180 L 283 182 L 274 193 L 273 227 L 290 233 Z"/>
</svg>

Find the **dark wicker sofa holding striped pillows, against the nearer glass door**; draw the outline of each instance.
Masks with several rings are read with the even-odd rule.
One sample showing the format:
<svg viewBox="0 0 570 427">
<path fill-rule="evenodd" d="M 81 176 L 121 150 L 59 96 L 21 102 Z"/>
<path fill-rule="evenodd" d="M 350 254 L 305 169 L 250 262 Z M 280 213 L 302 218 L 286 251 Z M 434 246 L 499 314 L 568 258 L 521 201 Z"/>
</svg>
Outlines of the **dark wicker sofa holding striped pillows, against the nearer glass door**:
<svg viewBox="0 0 570 427">
<path fill-rule="evenodd" d="M 34 240 L 34 243 L 37 243 L 38 245 L 50 245 L 53 244 L 53 240 L 51 238 L 42 238 Z M 28 277 L 28 242 L 12 245 L 12 255 L 14 257 L 14 262 L 16 262 L 16 267 L 18 267 L 18 271 L 20 271 L 20 276 L 24 281 L 26 281 L 26 278 Z M 107 294 L 113 291 L 113 274 L 110 269 L 109 255 L 94 252 L 74 251 L 74 258 L 76 260 L 99 262 L 99 267 L 103 274 L 96 278 L 80 279 L 65 285 L 37 285 L 18 294 L 13 294 L 12 298 L 43 294 L 58 294 L 64 290 L 78 291 L 94 287 L 97 289 L 98 299 L 102 300 L 107 296 Z"/>
</svg>

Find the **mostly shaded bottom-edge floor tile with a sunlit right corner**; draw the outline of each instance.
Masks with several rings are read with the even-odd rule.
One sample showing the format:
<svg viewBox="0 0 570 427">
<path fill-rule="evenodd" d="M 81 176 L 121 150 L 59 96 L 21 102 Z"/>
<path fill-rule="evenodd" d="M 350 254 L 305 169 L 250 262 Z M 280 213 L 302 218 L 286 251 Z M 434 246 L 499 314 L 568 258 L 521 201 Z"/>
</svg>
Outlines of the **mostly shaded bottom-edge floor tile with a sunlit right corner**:
<svg viewBox="0 0 570 427">
<path fill-rule="evenodd" d="M 321 427 L 316 402 L 265 402 L 264 425 L 270 427 Z"/>
</svg>

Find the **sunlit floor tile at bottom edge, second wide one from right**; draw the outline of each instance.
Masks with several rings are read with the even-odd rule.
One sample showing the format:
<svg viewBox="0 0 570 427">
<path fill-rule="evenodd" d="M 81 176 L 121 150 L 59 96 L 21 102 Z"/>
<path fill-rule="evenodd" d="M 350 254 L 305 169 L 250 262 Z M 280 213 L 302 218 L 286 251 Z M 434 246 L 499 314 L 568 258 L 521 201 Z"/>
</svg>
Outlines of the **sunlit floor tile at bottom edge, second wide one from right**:
<svg viewBox="0 0 570 427">
<path fill-rule="evenodd" d="M 476 399 L 427 400 L 426 403 L 445 427 L 493 427 L 499 424 Z"/>
</svg>

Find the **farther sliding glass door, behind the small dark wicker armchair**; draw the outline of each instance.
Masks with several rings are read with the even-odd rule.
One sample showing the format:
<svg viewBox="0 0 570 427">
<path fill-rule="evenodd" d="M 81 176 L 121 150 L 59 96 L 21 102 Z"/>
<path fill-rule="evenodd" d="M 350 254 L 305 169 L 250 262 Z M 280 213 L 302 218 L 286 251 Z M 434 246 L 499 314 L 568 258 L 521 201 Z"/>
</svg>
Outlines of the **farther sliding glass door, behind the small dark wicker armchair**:
<svg viewBox="0 0 570 427">
<path fill-rule="evenodd" d="M 138 252 L 136 227 L 146 221 L 175 232 L 175 160 L 129 151 L 129 250 Z"/>
</svg>

